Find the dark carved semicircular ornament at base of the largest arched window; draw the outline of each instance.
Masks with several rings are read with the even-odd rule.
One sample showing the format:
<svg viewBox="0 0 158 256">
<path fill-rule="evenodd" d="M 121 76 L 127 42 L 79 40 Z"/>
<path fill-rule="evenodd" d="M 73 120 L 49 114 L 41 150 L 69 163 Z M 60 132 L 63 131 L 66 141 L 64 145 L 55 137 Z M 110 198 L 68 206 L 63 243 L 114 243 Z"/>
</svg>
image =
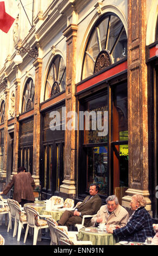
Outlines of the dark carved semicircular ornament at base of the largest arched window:
<svg viewBox="0 0 158 256">
<path fill-rule="evenodd" d="M 109 52 L 106 50 L 102 50 L 96 59 L 96 63 L 94 65 L 94 74 L 99 72 L 100 70 L 103 70 L 107 68 L 107 66 L 110 66 L 112 64 L 111 57 L 109 55 Z"/>
</svg>

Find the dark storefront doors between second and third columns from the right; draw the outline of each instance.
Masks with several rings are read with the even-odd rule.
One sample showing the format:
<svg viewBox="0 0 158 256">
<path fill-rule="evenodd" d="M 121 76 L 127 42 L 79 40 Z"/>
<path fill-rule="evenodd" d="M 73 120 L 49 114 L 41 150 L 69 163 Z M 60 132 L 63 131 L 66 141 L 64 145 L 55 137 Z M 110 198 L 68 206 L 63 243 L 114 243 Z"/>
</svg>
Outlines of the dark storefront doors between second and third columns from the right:
<svg viewBox="0 0 158 256">
<path fill-rule="evenodd" d="M 61 114 L 62 107 L 53 109 Z M 41 168 L 40 182 L 42 199 L 49 199 L 59 194 L 60 185 L 64 179 L 64 138 L 65 130 L 62 125 L 50 129 L 51 111 L 42 113 L 43 131 L 41 132 Z M 62 117 L 62 114 L 61 114 Z M 55 116 L 54 116 L 55 118 Z M 64 121 L 61 120 L 63 124 Z"/>
</svg>

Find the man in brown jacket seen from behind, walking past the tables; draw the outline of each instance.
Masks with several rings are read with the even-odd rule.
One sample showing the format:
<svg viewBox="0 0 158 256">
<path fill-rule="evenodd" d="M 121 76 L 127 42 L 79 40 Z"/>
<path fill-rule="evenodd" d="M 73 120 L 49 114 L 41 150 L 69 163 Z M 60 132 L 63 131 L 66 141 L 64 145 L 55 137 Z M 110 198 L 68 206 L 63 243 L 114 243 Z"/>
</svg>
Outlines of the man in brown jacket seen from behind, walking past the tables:
<svg viewBox="0 0 158 256">
<path fill-rule="evenodd" d="M 26 172 L 24 167 L 18 168 L 17 174 L 13 175 L 12 180 L 0 194 L 8 194 L 12 186 L 14 186 L 13 199 L 20 203 L 22 207 L 26 203 L 34 202 L 33 190 L 36 185 L 31 174 Z"/>
</svg>

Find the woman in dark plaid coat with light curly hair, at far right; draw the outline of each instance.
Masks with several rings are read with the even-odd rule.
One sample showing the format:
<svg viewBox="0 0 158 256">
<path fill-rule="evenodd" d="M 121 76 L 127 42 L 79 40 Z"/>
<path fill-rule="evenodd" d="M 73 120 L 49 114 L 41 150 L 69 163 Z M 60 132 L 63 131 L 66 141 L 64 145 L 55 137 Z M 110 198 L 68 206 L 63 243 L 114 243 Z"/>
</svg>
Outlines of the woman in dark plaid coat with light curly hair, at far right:
<svg viewBox="0 0 158 256">
<path fill-rule="evenodd" d="M 141 194 L 135 194 L 131 198 L 130 206 L 134 213 L 129 218 L 127 225 L 115 230 L 111 228 L 106 230 L 118 237 L 120 241 L 145 242 L 147 236 L 154 236 L 151 216 L 145 209 L 146 199 Z"/>
</svg>

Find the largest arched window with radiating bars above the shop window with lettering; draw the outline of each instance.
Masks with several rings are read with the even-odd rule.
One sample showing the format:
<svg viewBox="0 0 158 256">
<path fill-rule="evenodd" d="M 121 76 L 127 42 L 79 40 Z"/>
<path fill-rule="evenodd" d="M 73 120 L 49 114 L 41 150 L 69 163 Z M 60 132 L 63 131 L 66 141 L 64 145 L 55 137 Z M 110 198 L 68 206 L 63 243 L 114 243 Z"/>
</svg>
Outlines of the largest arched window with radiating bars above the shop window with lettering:
<svg viewBox="0 0 158 256">
<path fill-rule="evenodd" d="M 127 34 L 113 13 L 103 15 L 94 25 L 87 42 L 81 80 L 127 58 Z"/>
</svg>

